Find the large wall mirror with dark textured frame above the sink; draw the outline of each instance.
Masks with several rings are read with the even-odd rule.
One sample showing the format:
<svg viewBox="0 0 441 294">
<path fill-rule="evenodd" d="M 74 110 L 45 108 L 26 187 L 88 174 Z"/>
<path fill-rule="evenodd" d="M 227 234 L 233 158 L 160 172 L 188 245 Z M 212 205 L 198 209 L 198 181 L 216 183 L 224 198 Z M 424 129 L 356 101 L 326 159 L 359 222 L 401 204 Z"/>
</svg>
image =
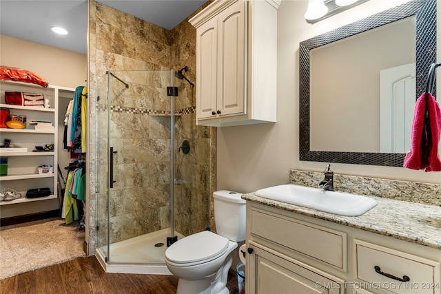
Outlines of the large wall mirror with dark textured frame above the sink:
<svg viewBox="0 0 441 294">
<path fill-rule="evenodd" d="M 416 41 L 413 38 L 407 38 L 400 39 L 400 42 L 404 42 L 402 46 L 372 47 L 374 42 L 369 40 L 378 39 L 378 34 L 385 34 L 386 32 L 389 35 L 396 34 L 397 30 L 406 30 L 402 35 L 413 35 L 413 38 L 416 36 Z M 360 49 L 352 48 L 351 50 L 358 54 L 360 61 L 355 62 L 357 60 L 356 56 L 355 59 L 349 62 L 351 65 L 356 65 L 356 67 L 349 67 L 345 70 L 350 74 L 343 74 L 333 79 L 333 75 L 336 76 L 338 72 L 336 68 L 347 65 L 343 65 L 342 60 L 336 61 L 336 54 L 334 54 L 334 57 L 330 56 L 333 56 L 333 51 L 338 51 L 338 56 L 349 56 L 349 52 L 345 52 L 347 50 L 345 46 L 351 43 L 362 43 L 365 47 L 371 47 L 370 51 L 381 52 L 381 50 L 387 49 L 389 52 L 383 51 L 382 53 L 372 54 L 369 60 L 365 60 L 368 58 L 368 54 L 360 53 Z M 410 78 L 410 80 L 413 80 L 411 81 L 413 86 L 410 87 L 411 94 L 409 96 L 411 97 L 411 103 L 414 105 L 416 98 L 425 90 L 427 72 L 431 63 L 435 62 L 435 45 L 436 1 L 418 0 L 409 1 L 396 8 L 391 8 L 301 42 L 299 49 L 300 160 L 402 167 L 404 153 L 393 154 L 389 153 L 393 150 L 380 147 L 380 125 L 383 128 L 385 123 L 382 120 L 383 118 L 380 118 L 383 114 L 380 115 L 380 72 L 378 69 L 395 69 L 396 65 L 407 64 L 408 71 L 410 68 L 413 72 Z M 400 48 L 409 48 L 409 46 L 413 46 L 413 48 L 411 50 L 400 50 Z M 406 52 L 406 54 L 399 60 L 394 61 L 395 63 L 388 62 L 384 65 L 378 65 L 379 58 L 373 60 L 374 56 L 380 56 L 380 54 L 392 56 L 394 52 Z M 353 52 L 351 54 L 354 55 Z M 362 59 L 363 63 L 361 62 Z M 329 65 L 331 61 L 336 61 L 336 63 Z M 376 63 L 376 68 L 371 75 L 375 76 L 361 77 L 361 72 L 366 74 L 369 70 L 366 68 L 366 70 L 360 71 L 359 65 L 363 65 L 362 67 L 368 67 L 367 65 L 369 65 L 371 67 L 370 65 L 373 63 Z M 356 76 L 356 78 L 353 78 L 353 76 Z M 361 81 L 366 82 L 362 84 Z M 373 81 L 376 81 L 376 85 L 373 85 Z M 354 88 L 351 89 L 350 85 L 353 85 Z M 334 90 L 331 89 L 331 86 L 334 87 Z M 371 90 L 369 94 L 366 93 L 367 88 Z M 348 89 L 351 90 L 348 91 Z M 351 95 L 349 95 L 349 98 L 344 98 L 346 102 L 340 101 L 339 106 L 336 96 L 345 97 L 343 95 L 345 92 L 349 92 Z M 361 92 L 362 94 L 358 94 Z M 362 100 L 357 101 L 356 98 L 358 97 Z M 365 104 L 367 102 L 368 104 Z M 343 105 L 346 107 L 346 111 L 343 110 L 345 109 L 342 107 Z M 371 112 L 367 113 L 366 109 L 369 107 Z M 356 109 L 362 109 L 363 113 L 357 114 Z M 411 109 L 412 118 L 413 106 Z M 311 113 L 314 115 L 311 115 Z M 362 114 L 365 115 L 364 118 L 362 118 Z M 333 122 L 333 117 L 338 117 L 340 123 L 342 122 L 340 127 L 338 127 L 338 123 Z M 351 120 L 351 117 L 353 120 Z M 322 121 L 319 121 L 318 118 Z M 359 120 L 364 125 L 357 125 L 357 118 L 362 118 Z M 356 125 L 356 127 L 343 129 L 345 125 Z M 329 130 L 330 128 L 331 130 Z M 329 132 L 325 129 L 328 129 Z M 363 129 L 365 129 L 365 132 Z M 375 132 L 371 132 L 372 130 Z M 338 138 L 338 136 L 350 134 L 351 132 L 353 133 L 352 136 Z M 403 132 L 398 133 L 401 137 L 410 136 L 410 133 L 405 135 L 402 134 Z M 384 134 L 381 136 L 384 136 Z M 366 141 L 363 143 L 365 139 Z M 342 142 L 342 145 L 335 144 L 339 142 Z M 351 142 L 360 142 L 360 146 L 353 146 Z M 404 149 L 402 147 L 402 149 L 398 149 L 398 152 L 409 151 L 403 151 Z"/>
</svg>

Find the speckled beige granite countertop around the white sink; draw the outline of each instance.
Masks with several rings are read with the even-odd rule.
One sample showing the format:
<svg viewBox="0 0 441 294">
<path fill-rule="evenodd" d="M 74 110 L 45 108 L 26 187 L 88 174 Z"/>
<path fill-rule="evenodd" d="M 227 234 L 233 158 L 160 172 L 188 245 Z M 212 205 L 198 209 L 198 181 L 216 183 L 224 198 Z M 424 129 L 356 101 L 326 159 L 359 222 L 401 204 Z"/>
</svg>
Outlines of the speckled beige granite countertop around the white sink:
<svg viewBox="0 0 441 294">
<path fill-rule="evenodd" d="M 441 250 L 441 207 L 439 206 L 371 197 L 377 200 L 378 204 L 362 216 L 338 216 L 333 213 L 262 198 L 254 193 L 244 194 L 242 198 Z"/>
</svg>

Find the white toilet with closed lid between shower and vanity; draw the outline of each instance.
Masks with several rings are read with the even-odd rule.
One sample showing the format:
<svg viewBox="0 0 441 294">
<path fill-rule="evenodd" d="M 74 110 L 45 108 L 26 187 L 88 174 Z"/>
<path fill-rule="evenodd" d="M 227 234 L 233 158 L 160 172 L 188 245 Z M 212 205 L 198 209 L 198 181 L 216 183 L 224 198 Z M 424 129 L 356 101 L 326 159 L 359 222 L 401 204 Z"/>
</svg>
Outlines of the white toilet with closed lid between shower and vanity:
<svg viewBox="0 0 441 294">
<path fill-rule="evenodd" d="M 229 294 L 227 277 L 232 251 L 245 240 L 242 193 L 216 191 L 216 232 L 202 231 L 178 240 L 165 251 L 165 264 L 179 278 L 177 294 Z"/>
</svg>

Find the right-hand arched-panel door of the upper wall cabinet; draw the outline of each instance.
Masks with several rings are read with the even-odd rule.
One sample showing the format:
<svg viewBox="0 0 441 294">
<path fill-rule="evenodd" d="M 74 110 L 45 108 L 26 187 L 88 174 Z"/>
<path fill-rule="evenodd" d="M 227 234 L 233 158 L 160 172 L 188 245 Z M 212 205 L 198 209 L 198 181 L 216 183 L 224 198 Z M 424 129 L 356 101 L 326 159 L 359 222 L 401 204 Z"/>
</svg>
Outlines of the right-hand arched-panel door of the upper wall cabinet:
<svg viewBox="0 0 441 294">
<path fill-rule="evenodd" d="M 218 101 L 220 116 L 245 114 L 245 5 L 237 1 L 218 14 Z"/>
</svg>

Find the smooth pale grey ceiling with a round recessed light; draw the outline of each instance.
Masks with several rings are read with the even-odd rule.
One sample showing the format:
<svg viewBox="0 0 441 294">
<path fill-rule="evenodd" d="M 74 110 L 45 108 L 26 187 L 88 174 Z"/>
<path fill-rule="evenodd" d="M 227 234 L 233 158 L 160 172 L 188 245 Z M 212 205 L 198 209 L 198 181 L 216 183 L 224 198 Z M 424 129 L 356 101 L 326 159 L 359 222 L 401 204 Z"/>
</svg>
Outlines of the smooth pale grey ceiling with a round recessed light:
<svg viewBox="0 0 441 294">
<path fill-rule="evenodd" d="M 97 0 L 172 30 L 207 0 Z M 69 34 L 58 35 L 59 25 Z M 0 34 L 86 53 L 88 0 L 0 0 Z"/>
</svg>

